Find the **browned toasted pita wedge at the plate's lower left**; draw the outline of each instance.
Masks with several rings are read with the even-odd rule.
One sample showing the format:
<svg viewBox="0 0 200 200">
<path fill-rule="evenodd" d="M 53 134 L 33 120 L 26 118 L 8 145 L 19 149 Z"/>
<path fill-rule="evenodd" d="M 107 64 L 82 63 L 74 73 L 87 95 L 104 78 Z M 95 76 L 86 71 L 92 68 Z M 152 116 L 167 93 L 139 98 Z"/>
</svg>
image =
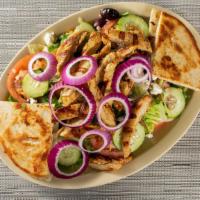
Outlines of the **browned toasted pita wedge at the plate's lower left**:
<svg viewBox="0 0 200 200">
<path fill-rule="evenodd" d="M 51 111 L 44 104 L 0 101 L 0 146 L 13 163 L 35 177 L 48 177 Z"/>
</svg>

